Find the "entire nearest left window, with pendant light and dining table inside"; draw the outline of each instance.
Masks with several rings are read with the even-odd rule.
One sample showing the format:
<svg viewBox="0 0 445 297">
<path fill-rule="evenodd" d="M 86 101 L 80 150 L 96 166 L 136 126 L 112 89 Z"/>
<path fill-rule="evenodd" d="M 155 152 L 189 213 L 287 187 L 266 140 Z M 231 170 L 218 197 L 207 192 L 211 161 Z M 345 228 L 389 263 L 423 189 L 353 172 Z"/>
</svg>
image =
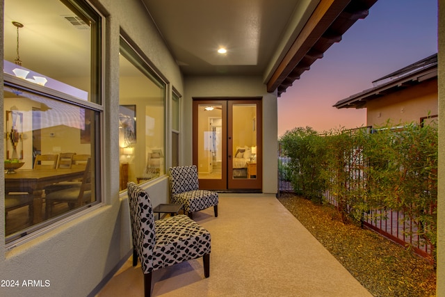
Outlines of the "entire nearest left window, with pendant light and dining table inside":
<svg viewBox="0 0 445 297">
<path fill-rule="evenodd" d="M 102 17 L 81 0 L 5 0 L 6 241 L 100 201 Z"/>
</svg>

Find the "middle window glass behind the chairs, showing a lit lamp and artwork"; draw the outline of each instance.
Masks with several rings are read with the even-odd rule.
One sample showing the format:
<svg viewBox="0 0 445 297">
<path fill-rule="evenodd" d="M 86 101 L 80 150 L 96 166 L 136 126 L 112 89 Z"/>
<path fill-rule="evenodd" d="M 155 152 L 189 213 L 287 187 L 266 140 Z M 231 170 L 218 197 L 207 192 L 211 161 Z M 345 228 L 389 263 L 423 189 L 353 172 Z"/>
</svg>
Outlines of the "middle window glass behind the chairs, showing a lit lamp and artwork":
<svg viewBox="0 0 445 297">
<path fill-rule="evenodd" d="M 165 83 L 147 58 L 120 42 L 120 189 L 165 175 Z"/>
</svg>

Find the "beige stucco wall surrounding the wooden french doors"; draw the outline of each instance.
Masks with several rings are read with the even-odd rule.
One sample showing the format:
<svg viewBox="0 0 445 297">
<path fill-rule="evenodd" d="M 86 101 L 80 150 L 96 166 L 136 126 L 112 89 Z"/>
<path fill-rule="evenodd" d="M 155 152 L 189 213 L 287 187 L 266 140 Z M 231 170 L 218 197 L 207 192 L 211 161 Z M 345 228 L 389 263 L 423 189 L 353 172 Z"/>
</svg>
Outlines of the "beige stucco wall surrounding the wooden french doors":
<svg viewBox="0 0 445 297">
<path fill-rule="evenodd" d="M 193 97 L 263 98 L 263 193 L 277 193 L 277 96 L 266 92 L 261 77 L 185 77 L 184 138 L 193 138 Z M 270 141 L 270 140 L 274 141 Z M 270 156 L 274 156 L 271 158 Z M 193 147 L 184 147 L 184 163 L 193 163 Z"/>
</svg>

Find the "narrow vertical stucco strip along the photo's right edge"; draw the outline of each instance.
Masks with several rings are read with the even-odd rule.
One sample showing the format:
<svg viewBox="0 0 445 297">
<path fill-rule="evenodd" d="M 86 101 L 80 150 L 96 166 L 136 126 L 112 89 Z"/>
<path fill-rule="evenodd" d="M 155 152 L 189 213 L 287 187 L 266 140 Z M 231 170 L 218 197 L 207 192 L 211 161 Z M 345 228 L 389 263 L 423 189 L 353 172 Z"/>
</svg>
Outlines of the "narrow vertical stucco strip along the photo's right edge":
<svg viewBox="0 0 445 297">
<path fill-rule="evenodd" d="M 441 1 L 442 4 L 442 1 Z M 439 5 L 439 170 L 437 191 L 437 297 L 445 297 L 445 6 Z"/>
</svg>

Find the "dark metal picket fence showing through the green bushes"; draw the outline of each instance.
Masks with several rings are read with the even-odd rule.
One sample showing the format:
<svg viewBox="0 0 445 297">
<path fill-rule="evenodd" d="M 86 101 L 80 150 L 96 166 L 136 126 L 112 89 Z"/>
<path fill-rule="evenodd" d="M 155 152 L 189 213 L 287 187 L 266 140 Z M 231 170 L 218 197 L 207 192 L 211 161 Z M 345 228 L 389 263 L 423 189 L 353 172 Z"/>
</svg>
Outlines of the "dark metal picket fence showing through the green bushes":
<svg viewBox="0 0 445 297">
<path fill-rule="evenodd" d="M 290 182 L 289 162 L 291 159 L 282 151 L 282 145 L 279 143 L 278 151 L 278 188 L 280 192 L 293 192 L 292 184 Z M 346 164 L 346 170 L 356 181 L 359 180 L 363 184 L 366 183 L 363 175 L 363 163 L 357 163 L 355 158 L 354 165 Z M 357 183 L 354 183 L 357 185 Z M 346 185 L 348 186 L 348 185 Z M 334 195 L 330 191 L 325 191 L 324 198 L 327 202 L 337 205 Z M 428 211 L 434 211 L 432 206 Z M 364 214 L 362 224 L 364 227 L 382 234 L 382 236 L 391 239 L 401 246 L 410 245 L 416 254 L 422 257 L 431 257 L 433 253 L 433 246 L 426 243 L 420 235 L 416 234 L 418 229 L 417 223 L 409 218 L 405 218 L 403 211 L 393 211 L 392 209 L 379 209 L 371 211 L 370 214 Z M 379 219 L 375 219 L 379 218 Z M 428 226 L 422 226 L 424 228 Z"/>
</svg>

